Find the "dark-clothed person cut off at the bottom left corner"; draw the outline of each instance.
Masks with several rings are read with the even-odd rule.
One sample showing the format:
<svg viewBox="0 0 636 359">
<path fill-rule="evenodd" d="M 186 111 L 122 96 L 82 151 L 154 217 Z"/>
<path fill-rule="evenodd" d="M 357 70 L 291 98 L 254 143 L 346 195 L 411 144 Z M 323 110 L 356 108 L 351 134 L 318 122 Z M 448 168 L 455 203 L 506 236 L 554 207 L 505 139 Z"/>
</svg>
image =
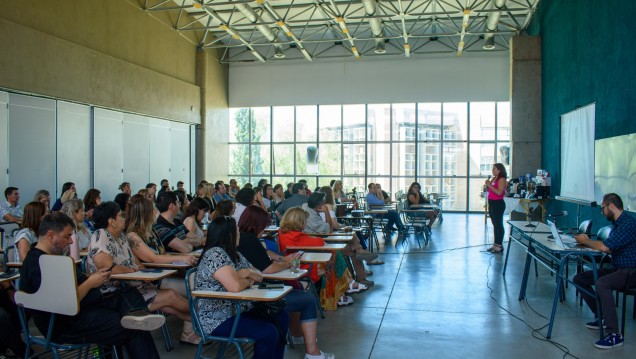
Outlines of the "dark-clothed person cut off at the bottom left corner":
<svg viewBox="0 0 636 359">
<path fill-rule="evenodd" d="M 20 337 L 20 317 L 13 302 L 14 293 L 11 282 L 0 283 L 0 358 L 21 358 L 26 353 L 26 344 Z M 7 349 L 14 355 L 8 355 Z"/>
</svg>

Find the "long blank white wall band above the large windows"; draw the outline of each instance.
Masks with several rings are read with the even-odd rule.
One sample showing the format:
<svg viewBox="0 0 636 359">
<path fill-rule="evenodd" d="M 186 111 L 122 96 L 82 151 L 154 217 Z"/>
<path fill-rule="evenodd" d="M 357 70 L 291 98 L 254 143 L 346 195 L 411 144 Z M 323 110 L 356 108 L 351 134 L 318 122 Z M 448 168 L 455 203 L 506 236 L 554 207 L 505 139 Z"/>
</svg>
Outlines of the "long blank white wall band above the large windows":
<svg viewBox="0 0 636 359">
<path fill-rule="evenodd" d="M 508 101 L 508 52 L 230 65 L 230 107 Z"/>
</svg>

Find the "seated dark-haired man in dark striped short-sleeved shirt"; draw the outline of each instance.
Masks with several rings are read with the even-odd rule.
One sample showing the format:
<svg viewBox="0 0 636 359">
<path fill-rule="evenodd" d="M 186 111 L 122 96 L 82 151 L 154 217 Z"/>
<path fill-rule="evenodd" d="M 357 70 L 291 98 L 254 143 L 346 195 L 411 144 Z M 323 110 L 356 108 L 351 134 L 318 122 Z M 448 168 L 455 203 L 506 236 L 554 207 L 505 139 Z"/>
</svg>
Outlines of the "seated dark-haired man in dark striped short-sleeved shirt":
<svg viewBox="0 0 636 359">
<path fill-rule="evenodd" d="M 175 217 L 179 214 L 179 199 L 174 192 L 164 192 L 157 198 L 157 217 L 154 229 L 164 247 L 175 252 L 190 253 L 194 246 L 186 239 L 188 230 Z"/>
</svg>

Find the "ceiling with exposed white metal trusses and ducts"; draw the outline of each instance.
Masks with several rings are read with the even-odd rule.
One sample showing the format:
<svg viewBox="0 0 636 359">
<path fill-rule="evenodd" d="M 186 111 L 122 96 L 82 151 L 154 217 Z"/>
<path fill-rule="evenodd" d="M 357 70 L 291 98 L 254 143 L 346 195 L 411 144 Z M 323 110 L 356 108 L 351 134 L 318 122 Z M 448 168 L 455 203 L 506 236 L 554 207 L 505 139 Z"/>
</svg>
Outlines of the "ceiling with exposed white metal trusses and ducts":
<svg viewBox="0 0 636 359">
<path fill-rule="evenodd" d="M 143 0 L 222 63 L 508 51 L 540 0 Z M 160 16 L 163 14 L 164 16 Z"/>
</svg>

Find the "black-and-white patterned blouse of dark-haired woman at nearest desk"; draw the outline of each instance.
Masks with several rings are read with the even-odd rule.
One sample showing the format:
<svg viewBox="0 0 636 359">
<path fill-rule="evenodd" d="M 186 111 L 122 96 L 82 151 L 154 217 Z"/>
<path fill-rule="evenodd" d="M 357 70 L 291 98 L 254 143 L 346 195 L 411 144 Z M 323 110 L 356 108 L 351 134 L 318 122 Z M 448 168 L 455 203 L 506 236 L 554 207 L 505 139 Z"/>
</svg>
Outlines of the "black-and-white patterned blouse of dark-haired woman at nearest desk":
<svg viewBox="0 0 636 359">
<path fill-rule="evenodd" d="M 251 265 L 239 253 L 238 264 L 234 264 L 230 256 L 219 247 L 208 249 L 199 261 L 199 267 L 194 277 L 195 290 L 212 290 L 217 292 L 227 292 L 221 282 L 214 279 L 214 273 L 222 267 L 230 266 L 235 270 L 250 268 Z M 252 303 L 242 302 L 241 312 L 246 312 L 252 308 Z M 201 326 L 206 333 L 212 333 L 216 327 L 221 325 L 234 313 L 234 304 L 231 301 L 221 299 L 202 299 L 199 301 L 199 317 Z"/>
</svg>

